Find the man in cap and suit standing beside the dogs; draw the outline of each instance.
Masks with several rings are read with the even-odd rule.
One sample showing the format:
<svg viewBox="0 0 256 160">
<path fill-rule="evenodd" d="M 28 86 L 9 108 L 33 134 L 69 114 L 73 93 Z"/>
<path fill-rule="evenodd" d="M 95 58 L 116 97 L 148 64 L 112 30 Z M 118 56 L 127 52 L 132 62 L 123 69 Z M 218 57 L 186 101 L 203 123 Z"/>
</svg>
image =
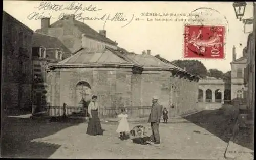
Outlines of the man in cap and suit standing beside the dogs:
<svg viewBox="0 0 256 160">
<path fill-rule="evenodd" d="M 160 144 L 159 123 L 160 123 L 160 118 L 162 116 L 163 106 L 159 105 L 157 101 L 158 101 L 158 98 L 154 96 L 152 98 L 152 108 L 151 108 L 150 117 L 148 118 L 147 122 L 151 123 L 153 142 L 155 142 L 155 144 Z"/>
</svg>

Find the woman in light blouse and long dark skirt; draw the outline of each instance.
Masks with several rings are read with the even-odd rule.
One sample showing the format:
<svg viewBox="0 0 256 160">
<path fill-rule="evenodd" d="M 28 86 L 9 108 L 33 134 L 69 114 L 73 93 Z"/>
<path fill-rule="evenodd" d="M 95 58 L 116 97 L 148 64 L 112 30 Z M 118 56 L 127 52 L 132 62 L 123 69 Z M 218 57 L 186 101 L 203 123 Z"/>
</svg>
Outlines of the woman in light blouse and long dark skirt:
<svg viewBox="0 0 256 160">
<path fill-rule="evenodd" d="M 103 130 L 98 117 L 98 103 L 96 100 L 97 96 L 92 96 L 92 102 L 88 105 L 90 119 L 86 131 L 87 135 L 103 135 Z"/>
</svg>

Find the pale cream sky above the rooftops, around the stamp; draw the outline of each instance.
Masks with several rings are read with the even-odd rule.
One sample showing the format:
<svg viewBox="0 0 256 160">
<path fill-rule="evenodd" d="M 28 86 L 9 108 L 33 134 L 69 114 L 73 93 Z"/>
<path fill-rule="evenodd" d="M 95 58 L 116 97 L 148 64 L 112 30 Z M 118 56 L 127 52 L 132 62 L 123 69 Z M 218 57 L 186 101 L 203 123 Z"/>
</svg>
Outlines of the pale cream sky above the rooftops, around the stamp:
<svg viewBox="0 0 256 160">
<path fill-rule="evenodd" d="M 42 5 L 42 3 L 45 6 Z M 47 7 L 49 3 L 53 8 Z M 70 7 L 73 4 L 73 8 Z M 62 5 L 62 7 L 61 7 Z M 80 8 L 75 6 L 82 5 Z M 64 9 L 64 7 L 69 8 Z M 183 58 L 183 34 L 184 24 L 189 22 L 179 21 L 190 17 L 179 16 L 188 15 L 198 8 L 200 18 L 204 18 L 204 25 L 221 24 L 226 26 L 225 34 L 225 58 L 224 59 L 197 59 L 201 61 L 207 69 L 218 69 L 222 72 L 231 70 L 232 48 L 236 46 L 237 58 L 242 56 L 242 49 L 246 46 L 249 32 L 252 31 L 251 25 L 246 25 L 236 19 L 232 2 L 70 2 L 70 1 L 4 1 L 3 10 L 11 16 L 27 25 L 35 31 L 41 26 L 39 15 L 44 17 L 51 16 L 50 24 L 58 20 L 63 14 L 75 14 L 77 20 L 88 24 L 96 31 L 106 30 L 106 36 L 118 43 L 130 52 L 141 54 L 143 50 L 150 49 L 152 55 L 159 54 L 161 57 L 173 61 Z M 73 10 L 72 10 L 73 9 Z M 252 2 L 247 2 L 244 18 L 253 15 Z M 77 11 L 76 11 L 77 10 Z M 210 16 L 209 13 L 211 12 Z M 111 20 L 116 13 L 126 21 Z M 143 16 L 144 15 L 148 16 Z M 158 14 L 157 16 L 149 15 Z M 38 14 L 38 17 L 34 16 Z M 103 17 L 103 15 L 105 15 Z M 168 14 L 168 16 L 160 16 Z M 172 15 L 172 16 L 171 16 Z M 110 20 L 107 17 L 109 16 Z M 84 18 L 84 20 L 81 19 Z M 90 20 L 96 17 L 96 20 Z M 105 19 L 99 20 L 101 17 Z M 172 18 L 173 21 L 159 21 L 157 19 Z M 174 19 L 179 19 L 174 21 Z M 149 21 L 152 19 L 152 21 Z M 106 22 L 105 22 L 106 21 Z M 131 21 L 131 22 L 130 22 Z M 129 23 L 130 22 L 130 23 Z M 105 24 L 104 24 L 105 23 Z M 245 33 L 247 32 L 247 33 Z"/>
</svg>

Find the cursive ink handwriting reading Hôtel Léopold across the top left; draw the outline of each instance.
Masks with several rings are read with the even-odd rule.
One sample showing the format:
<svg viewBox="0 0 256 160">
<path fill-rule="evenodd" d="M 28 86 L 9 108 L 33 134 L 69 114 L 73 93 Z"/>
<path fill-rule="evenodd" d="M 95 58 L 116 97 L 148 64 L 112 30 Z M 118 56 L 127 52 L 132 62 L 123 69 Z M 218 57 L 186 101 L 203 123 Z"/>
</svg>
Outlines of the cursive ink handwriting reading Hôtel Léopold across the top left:
<svg viewBox="0 0 256 160">
<path fill-rule="evenodd" d="M 107 21 L 114 21 L 114 22 L 123 22 L 124 25 L 121 27 L 124 27 L 132 22 L 134 19 L 134 14 L 131 14 L 129 17 L 127 17 L 122 12 L 117 12 L 114 15 L 111 15 L 109 13 L 103 13 L 101 15 L 97 16 L 83 16 L 84 12 L 97 12 L 103 9 L 97 8 L 96 6 L 89 5 L 84 6 L 80 4 L 79 2 L 71 2 L 69 5 L 65 6 L 63 4 L 57 4 L 57 2 L 41 2 L 38 6 L 34 7 L 38 9 L 38 11 L 34 11 L 30 13 L 27 18 L 29 20 L 39 20 L 44 17 L 49 17 L 52 19 L 61 19 L 67 13 L 65 11 L 74 11 L 75 19 L 76 20 L 99 20 L 104 21 L 104 26 Z M 59 12 L 59 15 L 57 17 L 53 17 L 49 12 L 45 13 L 44 11 L 51 11 L 51 12 Z"/>
</svg>

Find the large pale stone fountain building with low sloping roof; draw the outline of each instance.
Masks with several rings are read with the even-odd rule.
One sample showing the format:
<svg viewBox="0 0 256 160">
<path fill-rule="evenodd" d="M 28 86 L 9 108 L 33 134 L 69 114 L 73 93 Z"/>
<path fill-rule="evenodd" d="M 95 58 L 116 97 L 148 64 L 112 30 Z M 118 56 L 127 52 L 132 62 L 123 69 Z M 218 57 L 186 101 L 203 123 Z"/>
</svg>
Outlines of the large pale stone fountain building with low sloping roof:
<svg viewBox="0 0 256 160">
<path fill-rule="evenodd" d="M 78 106 L 82 96 L 88 101 L 92 95 L 98 96 L 100 106 L 150 106 L 157 95 L 163 106 L 175 106 L 175 114 L 197 108 L 199 78 L 150 50 L 139 55 L 108 46 L 82 48 L 49 68 L 54 106 Z"/>
</svg>

